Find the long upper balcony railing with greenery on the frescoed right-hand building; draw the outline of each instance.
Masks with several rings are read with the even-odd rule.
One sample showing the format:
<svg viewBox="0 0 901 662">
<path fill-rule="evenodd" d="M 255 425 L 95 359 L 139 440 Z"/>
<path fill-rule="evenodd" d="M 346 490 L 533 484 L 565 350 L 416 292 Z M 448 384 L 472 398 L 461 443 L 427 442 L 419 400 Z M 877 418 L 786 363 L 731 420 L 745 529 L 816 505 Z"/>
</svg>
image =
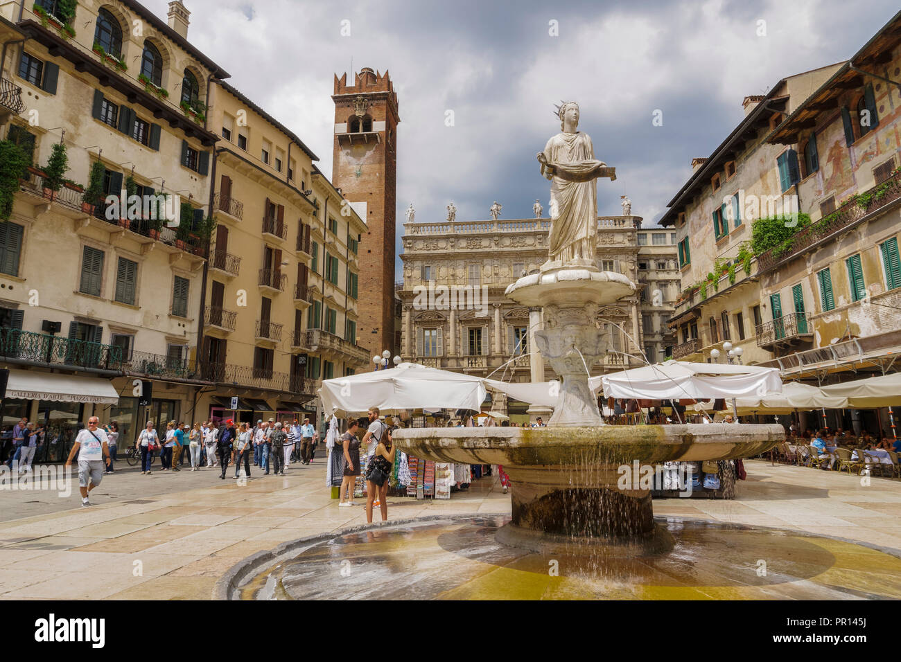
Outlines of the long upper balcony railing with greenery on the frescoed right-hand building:
<svg viewBox="0 0 901 662">
<path fill-rule="evenodd" d="M 833 213 L 825 215 L 818 222 L 808 225 L 799 231 L 790 240 L 787 246 L 776 246 L 762 253 L 757 258 L 757 268 L 760 273 L 775 268 L 778 264 L 804 252 L 820 240 L 846 228 L 851 223 L 860 221 L 864 216 L 876 212 L 881 207 L 894 202 L 901 197 L 901 172 L 896 172 L 892 177 L 878 186 L 873 186 L 860 195 L 851 198 Z"/>
</svg>

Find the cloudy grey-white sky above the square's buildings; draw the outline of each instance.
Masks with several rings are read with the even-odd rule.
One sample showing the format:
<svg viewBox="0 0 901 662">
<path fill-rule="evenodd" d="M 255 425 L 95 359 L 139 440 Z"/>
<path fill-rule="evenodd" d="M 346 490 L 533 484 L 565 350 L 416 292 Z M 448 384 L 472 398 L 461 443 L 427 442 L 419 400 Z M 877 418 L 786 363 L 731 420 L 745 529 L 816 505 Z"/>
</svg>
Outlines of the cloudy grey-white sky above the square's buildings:
<svg viewBox="0 0 901 662">
<path fill-rule="evenodd" d="M 398 253 L 410 202 L 417 222 L 443 220 L 450 201 L 458 220 L 486 219 L 495 200 L 502 219 L 532 217 L 535 198 L 547 208 L 535 153 L 560 131 L 560 99 L 578 101 L 596 158 L 616 167 L 616 181 L 598 186 L 598 213 L 621 213 L 626 194 L 656 224 L 691 159 L 741 121 L 745 95 L 848 59 L 897 11 L 893 0 L 853 10 L 843 0 L 184 2 L 189 40 L 295 131 L 327 175 L 333 74 L 352 79 L 351 60 L 388 69 L 401 116 Z M 165 18 L 165 0 L 145 5 Z"/>
</svg>

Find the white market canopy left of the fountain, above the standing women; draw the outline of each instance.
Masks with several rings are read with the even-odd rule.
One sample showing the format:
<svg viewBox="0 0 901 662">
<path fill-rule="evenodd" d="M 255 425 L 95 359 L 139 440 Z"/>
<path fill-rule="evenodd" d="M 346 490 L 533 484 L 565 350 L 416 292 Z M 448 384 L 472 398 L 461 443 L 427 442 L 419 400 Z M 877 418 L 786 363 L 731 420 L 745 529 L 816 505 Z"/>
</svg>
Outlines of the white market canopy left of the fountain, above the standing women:
<svg viewBox="0 0 901 662">
<path fill-rule="evenodd" d="M 398 409 L 469 409 L 478 412 L 486 390 L 478 376 L 402 363 L 323 381 L 319 396 L 326 415 L 365 413 L 369 407 L 385 412 Z"/>
</svg>

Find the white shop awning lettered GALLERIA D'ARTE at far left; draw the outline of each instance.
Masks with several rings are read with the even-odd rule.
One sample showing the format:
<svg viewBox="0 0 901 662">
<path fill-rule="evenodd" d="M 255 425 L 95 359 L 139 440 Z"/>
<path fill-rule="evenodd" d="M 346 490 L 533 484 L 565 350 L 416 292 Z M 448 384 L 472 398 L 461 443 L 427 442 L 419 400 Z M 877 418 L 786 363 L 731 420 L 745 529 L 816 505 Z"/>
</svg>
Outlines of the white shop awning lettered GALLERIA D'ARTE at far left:
<svg viewBox="0 0 901 662">
<path fill-rule="evenodd" d="M 119 403 L 119 394 L 108 379 L 15 368 L 9 371 L 6 397 L 54 403 Z"/>
</svg>

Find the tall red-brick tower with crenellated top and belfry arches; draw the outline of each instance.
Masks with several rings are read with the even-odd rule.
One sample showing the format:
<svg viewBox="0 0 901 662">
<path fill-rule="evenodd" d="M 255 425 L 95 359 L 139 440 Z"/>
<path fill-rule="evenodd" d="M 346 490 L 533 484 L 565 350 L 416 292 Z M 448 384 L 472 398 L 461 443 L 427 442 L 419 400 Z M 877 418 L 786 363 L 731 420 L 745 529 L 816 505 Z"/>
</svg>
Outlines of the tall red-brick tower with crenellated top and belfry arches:
<svg viewBox="0 0 901 662">
<path fill-rule="evenodd" d="M 346 73 L 335 76 L 332 101 L 332 184 L 356 203 L 369 226 L 359 242 L 357 344 L 369 349 L 370 356 L 383 349 L 394 356 L 400 349 L 394 328 L 397 95 L 387 71 L 364 67 L 352 86 Z"/>
</svg>

